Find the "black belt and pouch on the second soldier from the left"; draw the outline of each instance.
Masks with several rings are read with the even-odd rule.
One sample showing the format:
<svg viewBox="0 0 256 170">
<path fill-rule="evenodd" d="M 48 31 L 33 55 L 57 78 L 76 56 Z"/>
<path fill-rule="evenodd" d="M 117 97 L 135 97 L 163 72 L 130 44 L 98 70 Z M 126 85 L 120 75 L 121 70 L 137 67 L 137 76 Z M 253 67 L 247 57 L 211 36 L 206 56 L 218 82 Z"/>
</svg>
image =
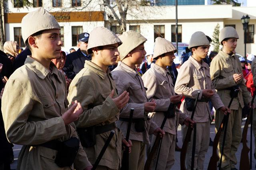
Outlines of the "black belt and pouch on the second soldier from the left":
<svg viewBox="0 0 256 170">
<path fill-rule="evenodd" d="M 105 133 L 115 129 L 115 123 L 110 123 L 102 126 L 90 126 L 90 127 L 77 127 L 76 131 L 78 133 L 81 145 L 83 147 L 92 147 L 96 144 L 96 135 Z"/>
</svg>

